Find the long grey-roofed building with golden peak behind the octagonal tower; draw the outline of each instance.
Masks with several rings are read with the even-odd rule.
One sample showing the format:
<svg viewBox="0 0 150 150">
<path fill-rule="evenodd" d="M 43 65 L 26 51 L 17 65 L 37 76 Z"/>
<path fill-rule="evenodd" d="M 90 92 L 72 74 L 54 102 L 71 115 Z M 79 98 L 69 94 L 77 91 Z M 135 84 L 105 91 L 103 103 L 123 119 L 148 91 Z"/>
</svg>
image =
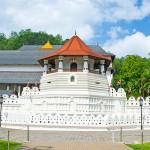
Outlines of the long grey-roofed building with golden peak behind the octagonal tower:
<svg viewBox="0 0 150 150">
<path fill-rule="evenodd" d="M 24 45 L 18 50 L 0 50 L 0 94 L 10 95 L 15 89 L 20 95 L 27 84 L 30 87 L 39 85 L 43 68 L 37 58 L 57 51 L 61 46 L 47 42 L 43 46 Z M 115 55 L 105 52 L 99 45 L 89 47 L 98 54 L 109 56 L 112 61 L 115 58 Z"/>
</svg>

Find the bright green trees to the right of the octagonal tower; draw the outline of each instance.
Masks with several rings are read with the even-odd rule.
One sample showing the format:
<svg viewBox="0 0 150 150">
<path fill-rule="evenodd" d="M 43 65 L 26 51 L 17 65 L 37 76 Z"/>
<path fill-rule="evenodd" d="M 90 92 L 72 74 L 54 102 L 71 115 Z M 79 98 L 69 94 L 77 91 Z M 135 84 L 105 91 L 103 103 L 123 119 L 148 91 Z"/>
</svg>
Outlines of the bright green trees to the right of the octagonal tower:
<svg viewBox="0 0 150 150">
<path fill-rule="evenodd" d="M 127 96 L 143 97 L 148 96 L 150 88 L 150 58 L 141 58 L 132 55 L 116 58 L 113 62 L 115 69 L 113 86 L 117 89 L 120 86 L 125 89 Z M 121 80 L 121 85 L 117 81 Z M 149 89 L 150 90 L 150 89 Z"/>
</svg>

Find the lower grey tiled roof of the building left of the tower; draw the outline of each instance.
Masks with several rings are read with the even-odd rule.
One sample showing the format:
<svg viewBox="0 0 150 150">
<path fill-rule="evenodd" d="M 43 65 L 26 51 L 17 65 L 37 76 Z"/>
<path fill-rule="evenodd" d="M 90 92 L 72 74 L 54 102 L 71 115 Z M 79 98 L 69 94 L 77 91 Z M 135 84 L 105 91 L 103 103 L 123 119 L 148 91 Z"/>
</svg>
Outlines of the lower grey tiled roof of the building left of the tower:
<svg viewBox="0 0 150 150">
<path fill-rule="evenodd" d="M 42 72 L 0 72 L 0 83 L 39 83 Z"/>
</svg>

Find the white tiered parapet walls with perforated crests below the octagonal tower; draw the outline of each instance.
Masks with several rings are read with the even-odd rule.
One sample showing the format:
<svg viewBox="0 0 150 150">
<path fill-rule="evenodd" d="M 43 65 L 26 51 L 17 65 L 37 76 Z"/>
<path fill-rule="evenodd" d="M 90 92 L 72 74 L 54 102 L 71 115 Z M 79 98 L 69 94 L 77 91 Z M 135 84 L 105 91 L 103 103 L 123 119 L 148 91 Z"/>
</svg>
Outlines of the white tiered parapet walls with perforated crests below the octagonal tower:
<svg viewBox="0 0 150 150">
<path fill-rule="evenodd" d="M 126 93 L 122 88 L 117 92 L 111 88 L 108 97 L 91 99 L 67 96 L 43 97 L 37 87 L 32 89 L 25 87 L 19 98 L 16 95 L 3 95 L 3 97 L 3 126 L 19 124 L 107 128 L 141 124 L 139 98 L 130 97 L 125 102 Z M 125 112 L 122 112 L 123 109 Z M 150 97 L 147 97 L 143 103 L 143 124 L 150 126 Z"/>
</svg>

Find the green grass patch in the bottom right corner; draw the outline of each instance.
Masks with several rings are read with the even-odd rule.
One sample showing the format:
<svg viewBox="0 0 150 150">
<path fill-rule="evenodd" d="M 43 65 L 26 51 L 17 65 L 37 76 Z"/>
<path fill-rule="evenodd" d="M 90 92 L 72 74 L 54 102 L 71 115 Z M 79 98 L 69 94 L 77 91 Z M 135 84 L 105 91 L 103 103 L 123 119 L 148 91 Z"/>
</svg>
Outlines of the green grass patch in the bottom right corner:
<svg viewBox="0 0 150 150">
<path fill-rule="evenodd" d="M 127 146 L 133 148 L 134 150 L 142 150 L 141 144 L 127 144 Z M 144 150 L 150 150 L 150 142 L 143 144 Z"/>
</svg>

